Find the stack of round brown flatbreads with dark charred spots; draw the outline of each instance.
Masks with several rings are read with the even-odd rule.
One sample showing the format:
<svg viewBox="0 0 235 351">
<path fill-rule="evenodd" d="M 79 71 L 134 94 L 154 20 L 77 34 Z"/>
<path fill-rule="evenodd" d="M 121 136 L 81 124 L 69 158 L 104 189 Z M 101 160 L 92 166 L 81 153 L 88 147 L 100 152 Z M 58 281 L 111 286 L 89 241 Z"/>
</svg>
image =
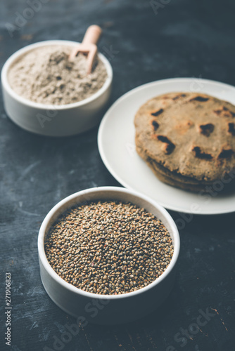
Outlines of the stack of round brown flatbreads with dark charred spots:
<svg viewBox="0 0 235 351">
<path fill-rule="evenodd" d="M 235 106 L 168 93 L 136 113 L 136 151 L 163 182 L 198 191 L 235 171 Z"/>
</svg>

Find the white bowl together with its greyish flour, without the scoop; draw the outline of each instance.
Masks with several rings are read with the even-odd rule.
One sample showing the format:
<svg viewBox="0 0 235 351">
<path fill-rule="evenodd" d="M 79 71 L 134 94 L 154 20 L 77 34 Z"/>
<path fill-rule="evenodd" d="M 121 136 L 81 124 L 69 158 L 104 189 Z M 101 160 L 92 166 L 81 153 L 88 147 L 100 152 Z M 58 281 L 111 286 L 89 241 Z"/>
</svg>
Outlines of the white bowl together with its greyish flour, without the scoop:
<svg viewBox="0 0 235 351">
<path fill-rule="evenodd" d="M 91 74 L 87 58 L 69 60 L 75 41 L 41 41 L 6 61 L 1 84 L 6 114 L 33 133 L 66 136 L 93 128 L 106 110 L 113 81 L 108 60 L 99 53 Z"/>
</svg>

